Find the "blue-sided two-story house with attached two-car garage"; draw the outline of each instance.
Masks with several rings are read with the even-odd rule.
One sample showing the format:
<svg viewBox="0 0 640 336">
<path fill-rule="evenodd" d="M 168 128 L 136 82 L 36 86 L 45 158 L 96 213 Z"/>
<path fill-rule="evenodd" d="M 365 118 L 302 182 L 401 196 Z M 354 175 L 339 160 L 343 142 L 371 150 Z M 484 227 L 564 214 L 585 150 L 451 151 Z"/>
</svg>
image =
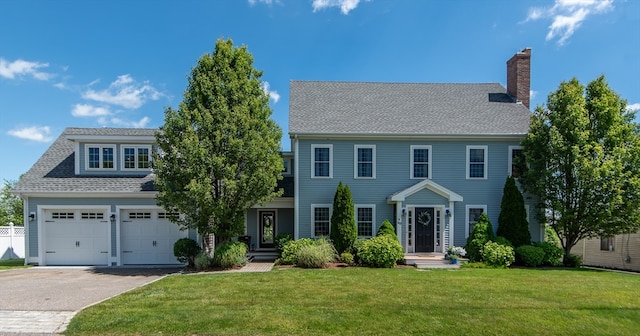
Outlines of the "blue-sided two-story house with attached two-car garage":
<svg viewBox="0 0 640 336">
<path fill-rule="evenodd" d="M 482 212 L 497 226 L 507 176 L 529 128 L 531 50 L 497 83 L 292 81 L 291 152 L 284 194 L 245 215 L 255 252 L 274 238 L 329 234 L 339 182 L 353 195 L 358 236 L 391 221 L 406 253 L 464 245 Z M 20 179 L 25 262 L 38 265 L 177 264 L 173 243 L 199 239 L 156 205 L 149 160 L 154 129 L 67 128 Z M 544 228 L 525 196 L 533 240 Z"/>
</svg>

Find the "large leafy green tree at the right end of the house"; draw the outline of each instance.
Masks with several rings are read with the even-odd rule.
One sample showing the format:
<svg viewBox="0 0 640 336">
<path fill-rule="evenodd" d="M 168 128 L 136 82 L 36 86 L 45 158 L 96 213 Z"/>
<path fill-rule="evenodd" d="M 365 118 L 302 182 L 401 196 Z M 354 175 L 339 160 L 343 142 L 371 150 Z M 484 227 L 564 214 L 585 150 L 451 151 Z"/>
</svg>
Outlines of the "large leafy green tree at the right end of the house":
<svg viewBox="0 0 640 336">
<path fill-rule="evenodd" d="M 524 189 L 566 257 L 585 238 L 640 229 L 640 132 L 634 113 L 601 76 L 563 82 L 536 108 L 522 141 Z"/>
</svg>

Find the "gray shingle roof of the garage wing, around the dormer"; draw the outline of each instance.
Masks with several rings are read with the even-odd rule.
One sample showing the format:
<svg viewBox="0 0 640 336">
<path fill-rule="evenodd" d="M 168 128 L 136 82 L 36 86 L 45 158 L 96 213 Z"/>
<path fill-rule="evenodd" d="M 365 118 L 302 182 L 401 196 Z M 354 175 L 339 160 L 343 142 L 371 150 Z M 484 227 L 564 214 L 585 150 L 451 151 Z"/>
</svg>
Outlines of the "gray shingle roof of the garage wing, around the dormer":
<svg viewBox="0 0 640 336">
<path fill-rule="evenodd" d="M 75 175 L 74 142 L 68 136 L 153 136 L 156 129 L 67 128 L 16 184 L 16 193 L 129 193 L 153 191 L 153 175 Z"/>
</svg>

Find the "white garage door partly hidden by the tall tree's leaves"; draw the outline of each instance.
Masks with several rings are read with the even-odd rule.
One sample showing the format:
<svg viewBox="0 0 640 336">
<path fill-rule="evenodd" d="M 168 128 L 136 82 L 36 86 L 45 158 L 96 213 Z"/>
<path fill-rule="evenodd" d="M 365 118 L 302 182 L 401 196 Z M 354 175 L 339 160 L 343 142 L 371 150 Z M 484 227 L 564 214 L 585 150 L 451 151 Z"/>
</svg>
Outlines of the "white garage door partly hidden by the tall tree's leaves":
<svg viewBox="0 0 640 336">
<path fill-rule="evenodd" d="M 125 210 L 121 217 L 122 263 L 125 265 L 180 264 L 173 244 L 187 236 L 169 221 L 167 213 L 151 210 Z"/>
</svg>

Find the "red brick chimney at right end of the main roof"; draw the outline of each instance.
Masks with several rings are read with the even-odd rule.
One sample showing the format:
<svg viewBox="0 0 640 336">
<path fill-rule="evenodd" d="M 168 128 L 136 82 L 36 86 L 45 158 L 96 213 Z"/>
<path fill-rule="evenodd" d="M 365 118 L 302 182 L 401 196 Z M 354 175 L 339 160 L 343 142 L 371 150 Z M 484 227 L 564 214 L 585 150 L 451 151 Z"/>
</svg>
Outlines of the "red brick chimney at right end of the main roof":
<svg viewBox="0 0 640 336">
<path fill-rule="evenodd" d="M 531 48 L 525 48 L 507 61 L 507 93 L 529 108 L 530 90 Z"/>
</svg>

